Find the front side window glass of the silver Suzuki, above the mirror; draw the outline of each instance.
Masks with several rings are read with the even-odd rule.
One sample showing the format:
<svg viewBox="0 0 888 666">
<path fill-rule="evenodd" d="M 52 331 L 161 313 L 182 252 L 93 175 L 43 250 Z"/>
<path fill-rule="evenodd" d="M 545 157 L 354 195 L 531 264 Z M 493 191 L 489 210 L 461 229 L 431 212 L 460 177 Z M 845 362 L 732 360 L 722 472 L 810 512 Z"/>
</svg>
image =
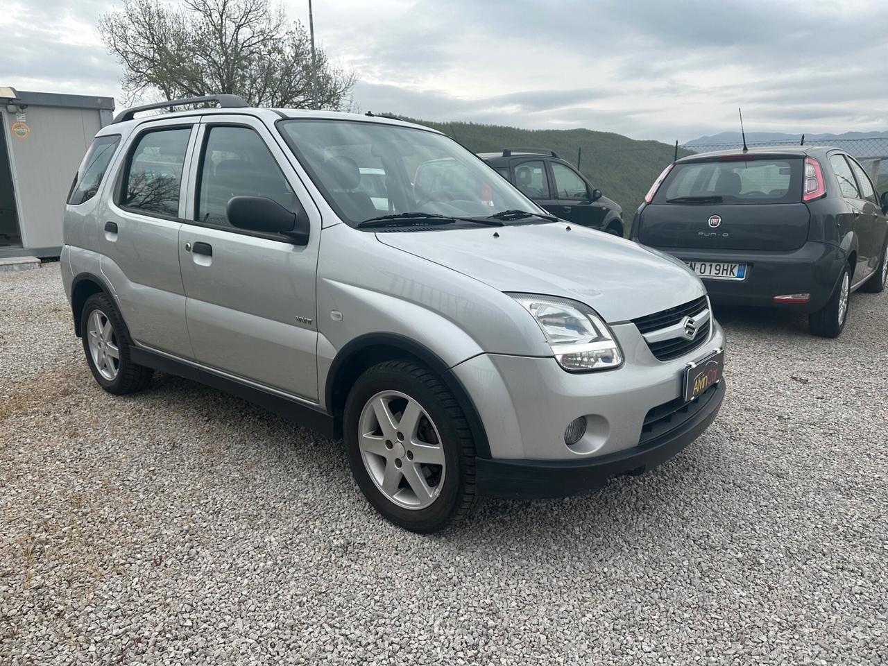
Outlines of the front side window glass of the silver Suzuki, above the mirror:
<svg viewBox="0 0 888 666">
<path fill-rule="evenodd" d="M 228 201 L 235 196 L 265 196 L 297 210 L 296 195 L 265 141 L 249 127 L 210 127 L 201 160 L 195 218 L 229 225 Z"/>
</svg>

